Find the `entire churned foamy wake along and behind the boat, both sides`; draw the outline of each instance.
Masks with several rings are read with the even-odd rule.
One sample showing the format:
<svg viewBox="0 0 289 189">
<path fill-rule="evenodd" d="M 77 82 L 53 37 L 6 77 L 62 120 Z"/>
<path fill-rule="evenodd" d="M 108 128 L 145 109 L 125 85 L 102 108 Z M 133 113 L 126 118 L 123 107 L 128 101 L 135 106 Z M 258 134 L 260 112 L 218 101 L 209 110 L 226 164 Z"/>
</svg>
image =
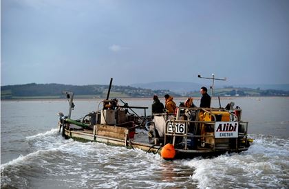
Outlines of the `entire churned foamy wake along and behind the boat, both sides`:
<svg viewBox="0 0 289 189">
<path fill-rule="evenodd" d="M 32 152 L 1 165 L 1 188 L 286 188 L 288 139 L 250 137 L 255 142 L 243 153 L 171 162 L 138 149 L 64 140 L 52 129 L 26 137 Z"/>
</svg>

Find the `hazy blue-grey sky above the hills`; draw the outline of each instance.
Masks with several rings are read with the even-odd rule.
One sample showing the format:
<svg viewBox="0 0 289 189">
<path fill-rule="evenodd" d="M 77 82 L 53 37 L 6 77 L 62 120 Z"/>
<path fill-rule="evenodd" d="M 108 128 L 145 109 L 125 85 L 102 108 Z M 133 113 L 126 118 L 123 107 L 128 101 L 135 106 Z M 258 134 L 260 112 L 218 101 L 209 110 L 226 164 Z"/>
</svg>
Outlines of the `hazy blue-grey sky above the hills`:
<svg viewBox="0 0 289 189">
<path fill-rule="evenodd" d="M 288 71 L 288 0 L 1 0 L 1 86 L 288 84 Z"/>
</svg>

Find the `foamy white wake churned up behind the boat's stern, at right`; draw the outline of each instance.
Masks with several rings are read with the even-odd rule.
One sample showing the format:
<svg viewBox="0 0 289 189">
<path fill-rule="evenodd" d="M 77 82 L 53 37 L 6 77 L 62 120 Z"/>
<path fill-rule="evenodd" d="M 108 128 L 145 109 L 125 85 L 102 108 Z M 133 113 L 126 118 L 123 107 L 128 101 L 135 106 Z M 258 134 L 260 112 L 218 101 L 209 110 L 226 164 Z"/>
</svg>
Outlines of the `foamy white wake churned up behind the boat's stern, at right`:
<svg viewBox="0 0 289 189">
<path fill-rule="evenodd" d="M 286 188 L 289 142 L 270 135 L 253 135 L 248 151 L 195 158 L 183 164 L 195 168 L 191 179 L 199 188 Z"/>
</svg>

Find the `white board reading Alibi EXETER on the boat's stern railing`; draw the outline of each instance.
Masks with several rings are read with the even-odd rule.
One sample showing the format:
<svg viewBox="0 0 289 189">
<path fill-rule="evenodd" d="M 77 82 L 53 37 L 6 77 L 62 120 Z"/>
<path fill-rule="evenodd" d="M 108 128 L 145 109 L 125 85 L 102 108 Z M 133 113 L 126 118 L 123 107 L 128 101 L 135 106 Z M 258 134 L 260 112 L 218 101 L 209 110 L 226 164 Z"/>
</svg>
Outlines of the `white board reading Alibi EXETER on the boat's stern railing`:
<svg viewBox="0 0 289 189">
<path fill-rule="evenodd" d="M 236 138 L 238 127 L 238 122 L 215 122 L 215 138 Z"/>
</svg>

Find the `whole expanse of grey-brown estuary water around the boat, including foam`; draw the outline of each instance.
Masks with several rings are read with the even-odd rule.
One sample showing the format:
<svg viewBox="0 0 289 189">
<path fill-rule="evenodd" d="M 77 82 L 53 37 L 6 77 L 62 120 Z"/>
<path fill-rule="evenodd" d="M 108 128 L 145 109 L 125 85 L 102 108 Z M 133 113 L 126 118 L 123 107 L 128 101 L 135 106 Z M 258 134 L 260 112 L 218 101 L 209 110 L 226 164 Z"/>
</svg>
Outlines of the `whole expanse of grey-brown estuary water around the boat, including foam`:
<svg viewBox="0 0 289 189">
<path fill-rule="evenodd" d="M 151 99 L 125 101 L 151 111 Z M 56 113 L 67 114 L 66 100 L 1 101 L 1 188 L 288 188 L 289 98 L 224 98 L 222 106 L 231 101 L 255 139 L 248 151 L 176 161 L 63 139 Z M 72 118 L 96 111 L 99 102 L 75 100 Z"/>
</svg>

